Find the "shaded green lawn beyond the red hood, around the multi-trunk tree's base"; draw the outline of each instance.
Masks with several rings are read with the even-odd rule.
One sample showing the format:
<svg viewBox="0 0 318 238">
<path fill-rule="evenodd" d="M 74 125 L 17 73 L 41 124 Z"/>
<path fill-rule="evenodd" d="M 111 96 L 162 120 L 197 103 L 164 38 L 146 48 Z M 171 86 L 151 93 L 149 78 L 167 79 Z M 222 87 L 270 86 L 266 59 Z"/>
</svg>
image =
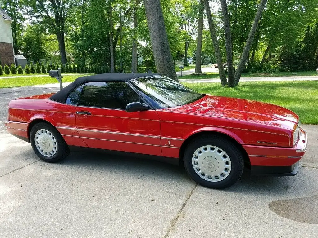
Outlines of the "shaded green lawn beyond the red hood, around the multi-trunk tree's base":
<svg viewBox="0 0 318 238">
<path fill-rule="evenodd" d="M 200 93 L 276 104 L 294 111 L 301 123 L 318 124 L 318 81 L 241 82 L 222 88 L 220 83 L 183 83 Z"/>
</svg>

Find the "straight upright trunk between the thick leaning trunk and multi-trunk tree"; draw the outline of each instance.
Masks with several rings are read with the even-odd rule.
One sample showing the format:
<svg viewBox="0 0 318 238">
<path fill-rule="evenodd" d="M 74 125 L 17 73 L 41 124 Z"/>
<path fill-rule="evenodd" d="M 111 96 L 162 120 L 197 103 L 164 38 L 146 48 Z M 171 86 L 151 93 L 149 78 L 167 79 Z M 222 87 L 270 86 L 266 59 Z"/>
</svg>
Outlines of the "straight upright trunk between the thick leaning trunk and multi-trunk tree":
<svg viewBox="0 0 318 238">
<path fill-rule="evenodd" d="M 201 74 L 201 57 L 202 57 L 202 35 L 203 35 L 203 1 L 199 1 L 199 18 L 198 18 L 198 35 L 197 35 L 197 51 L 196 51 L 196 74 Z"/>
</svg>

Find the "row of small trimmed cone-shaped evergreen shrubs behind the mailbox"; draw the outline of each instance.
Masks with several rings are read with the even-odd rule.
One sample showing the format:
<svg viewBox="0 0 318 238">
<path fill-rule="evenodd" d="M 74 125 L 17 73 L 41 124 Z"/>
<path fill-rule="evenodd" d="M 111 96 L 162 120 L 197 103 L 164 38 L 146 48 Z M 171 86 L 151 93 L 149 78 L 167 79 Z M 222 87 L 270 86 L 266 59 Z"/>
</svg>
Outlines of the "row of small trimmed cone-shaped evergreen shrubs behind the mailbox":
<svg viewBox="0 0 318 238">
<path fill-rule="evenodd" d="M 26 65 L 24 68 L 24 73 L 25 74 L 48 74 L 50 70 L 57 70 L 61 69 L 61 73 L 92 73 L 92 74 L 104 74 L 104 73 L 109 73 L 108 67 L 102 67 L 102 66 L 84 66 L 84 65 L 59 65 L 57 64 L 52 64 L 52 66 L 47 62 L 46 66 L 42 62 L 41 65 L 37 62 L 35 67 L 33 63 L 30 63 L 29 65 Z M 11 64 L 10 68 L 8 65 L 2 66 L 0 65 L 0 75 L 6 74 L 23 74 L 23 69 L 21 65 L 19 65 L 17 68 L 15 67 L 14 64 Z"/>
</svg>

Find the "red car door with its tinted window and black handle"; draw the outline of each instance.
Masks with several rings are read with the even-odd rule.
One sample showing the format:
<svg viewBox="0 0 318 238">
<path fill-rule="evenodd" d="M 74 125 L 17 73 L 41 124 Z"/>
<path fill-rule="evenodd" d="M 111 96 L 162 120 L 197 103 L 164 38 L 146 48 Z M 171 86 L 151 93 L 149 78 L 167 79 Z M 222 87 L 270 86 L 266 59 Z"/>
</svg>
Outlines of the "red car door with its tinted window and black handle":
<svg viewBox="0 0 318 238">
<path fill-rule="evenodd" d="M 76 107 L 76 129 L 88 147 L 162 155 L 155 110 L 126 112 L 140 96 L 125 82 L 85 83 Z"/>
</svg>

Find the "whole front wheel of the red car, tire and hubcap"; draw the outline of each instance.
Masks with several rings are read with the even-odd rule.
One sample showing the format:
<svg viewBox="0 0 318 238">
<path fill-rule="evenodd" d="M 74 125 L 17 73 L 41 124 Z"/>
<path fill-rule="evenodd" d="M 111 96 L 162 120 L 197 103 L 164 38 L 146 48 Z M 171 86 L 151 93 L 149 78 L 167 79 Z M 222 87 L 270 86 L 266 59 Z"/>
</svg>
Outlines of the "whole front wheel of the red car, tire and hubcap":
<svg viewBox="0 0 318 238">
<path fill-rule="evenodd" d="M 198 184 L 227 188 L 239 180 L 244 159 L 237 145 L 218 135 L 201 136 L 184 151 L 184 167 Z"/>
</svg>

